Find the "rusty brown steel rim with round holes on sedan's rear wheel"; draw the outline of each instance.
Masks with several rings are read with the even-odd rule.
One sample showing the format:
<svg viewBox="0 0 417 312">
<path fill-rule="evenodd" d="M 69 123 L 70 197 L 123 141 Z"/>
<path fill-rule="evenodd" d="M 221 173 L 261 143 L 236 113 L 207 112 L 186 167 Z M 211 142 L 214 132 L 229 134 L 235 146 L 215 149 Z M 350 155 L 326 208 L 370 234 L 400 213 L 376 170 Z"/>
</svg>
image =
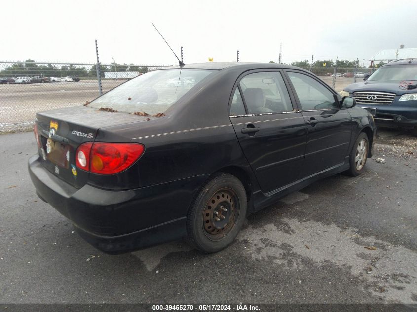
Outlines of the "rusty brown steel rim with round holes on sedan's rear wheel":
<svg viewBox="0 0 417 312">
<path fill-rule="evenodd" d="M 223 239 L 233 229 L 239 210 L 239 199 L 232 189 L 222 188 L 215 192 L 203 211 L 205 236 L 212 241 Z"/>
</svg>

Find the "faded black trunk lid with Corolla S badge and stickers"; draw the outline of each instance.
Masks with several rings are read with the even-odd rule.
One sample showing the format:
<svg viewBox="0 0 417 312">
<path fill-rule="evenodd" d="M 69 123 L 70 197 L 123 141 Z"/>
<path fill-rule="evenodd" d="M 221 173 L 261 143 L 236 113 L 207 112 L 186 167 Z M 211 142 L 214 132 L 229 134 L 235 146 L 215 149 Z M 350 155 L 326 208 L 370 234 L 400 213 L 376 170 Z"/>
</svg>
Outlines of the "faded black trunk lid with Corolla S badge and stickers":
<svg viewBox="0 0 417 312">
<path fill-rule="evenodd" d="M 43 166 L 52 174 L 81 188 L 89 173 L 76 167 L 76 150 L 94 141 L 99 129 L 131 122 L 144 117 L 76 106 L 37 113 L 39 154 Z"/>
</svg>

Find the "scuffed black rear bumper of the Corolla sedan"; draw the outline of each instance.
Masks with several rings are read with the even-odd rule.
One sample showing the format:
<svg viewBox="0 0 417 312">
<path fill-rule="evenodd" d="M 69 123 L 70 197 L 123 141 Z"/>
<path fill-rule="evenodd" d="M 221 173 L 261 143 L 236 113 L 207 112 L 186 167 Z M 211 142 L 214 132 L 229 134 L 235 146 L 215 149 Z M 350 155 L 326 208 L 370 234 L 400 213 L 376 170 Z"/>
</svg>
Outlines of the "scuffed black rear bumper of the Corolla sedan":
<svg viewBox="0 0 417 312">
<path fill-rule="evenodd" d="M 87 242 L 107 253 L 122 253 L 186 235 L 191 200 L 207 176 L 133 190 L 77 189 L 47 171 L 34 155 L 29 173 L 38 196 L 71 220 Z"/>
</svg>

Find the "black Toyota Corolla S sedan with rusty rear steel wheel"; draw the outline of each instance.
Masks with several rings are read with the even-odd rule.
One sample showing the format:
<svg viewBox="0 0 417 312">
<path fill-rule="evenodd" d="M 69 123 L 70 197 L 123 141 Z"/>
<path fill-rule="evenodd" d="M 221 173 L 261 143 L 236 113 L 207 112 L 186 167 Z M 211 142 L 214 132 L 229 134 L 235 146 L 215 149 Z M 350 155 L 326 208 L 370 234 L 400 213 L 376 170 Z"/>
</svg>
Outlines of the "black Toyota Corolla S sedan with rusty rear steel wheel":
<svg viewBox="0 0 417 312">
<path fill-rule="evenodd" d="M 187 77 L 190 84 L 169 82 Z M 38 196 L 121 253 L 185 238 L 230 244 L 245 217 L 329 175 L 364 171 L 373 117 L 310 72 L 206 63 L 148 72 L 36 115 Z"/>
</svg>

